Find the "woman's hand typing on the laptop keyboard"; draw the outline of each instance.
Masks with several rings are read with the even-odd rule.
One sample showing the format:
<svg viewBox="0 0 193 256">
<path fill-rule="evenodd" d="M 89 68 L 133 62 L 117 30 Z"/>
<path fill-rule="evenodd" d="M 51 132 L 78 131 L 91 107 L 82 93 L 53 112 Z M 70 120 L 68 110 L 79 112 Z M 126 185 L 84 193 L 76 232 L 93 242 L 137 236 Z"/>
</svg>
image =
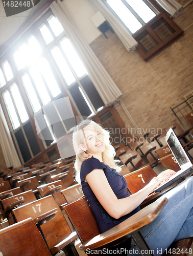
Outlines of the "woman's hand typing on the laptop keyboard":
<svg viewBox="0 0 193 256">
<path fill-rule="evenodd" d="M 160 173 L 157 177 L 154 177 L 150 183 L 146 186 L 147 189 L 150 189 L 150 193 L 161 184 L 163 181 L 167 181 L 170 179 L 176 172 L 171 169 L 164 170 L 164 172 Z"/>
</svg>

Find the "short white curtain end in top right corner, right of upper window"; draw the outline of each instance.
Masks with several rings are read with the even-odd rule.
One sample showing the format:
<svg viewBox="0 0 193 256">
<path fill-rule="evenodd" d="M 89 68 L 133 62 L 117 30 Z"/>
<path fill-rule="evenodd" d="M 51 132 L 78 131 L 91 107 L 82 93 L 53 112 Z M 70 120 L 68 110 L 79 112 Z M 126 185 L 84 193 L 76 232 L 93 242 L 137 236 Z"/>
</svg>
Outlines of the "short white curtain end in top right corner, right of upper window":
<svg viewBox="0 0 193 256">
<path fill-rule="evenodd" d="M 156 2 L 174 18 L 176 18 L 183 9 L 183 6 L 175 0 L 156 0 Z"/>
</svg>

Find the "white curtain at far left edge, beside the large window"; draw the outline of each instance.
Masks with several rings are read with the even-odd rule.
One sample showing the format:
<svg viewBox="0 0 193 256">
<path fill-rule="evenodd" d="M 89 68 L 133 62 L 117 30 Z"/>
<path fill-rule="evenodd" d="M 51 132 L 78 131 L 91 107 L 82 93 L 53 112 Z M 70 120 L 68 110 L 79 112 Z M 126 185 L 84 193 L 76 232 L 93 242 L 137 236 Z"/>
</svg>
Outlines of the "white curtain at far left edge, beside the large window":
<svg viewBox="0 0 193 256">
<path fill-rule="evenodd" d="M 6 166 L 7 167 L 20 166 L 21 163 L 18 158 L 17 152 L 15 150 L 15 146 L 13 144 L 13 140 L 11 138 L 9 127 L 7 125 L 1 104 L 0 104 L 0 143 L 3 151 L 4 159 L 6 162 Z"/>
</svg>

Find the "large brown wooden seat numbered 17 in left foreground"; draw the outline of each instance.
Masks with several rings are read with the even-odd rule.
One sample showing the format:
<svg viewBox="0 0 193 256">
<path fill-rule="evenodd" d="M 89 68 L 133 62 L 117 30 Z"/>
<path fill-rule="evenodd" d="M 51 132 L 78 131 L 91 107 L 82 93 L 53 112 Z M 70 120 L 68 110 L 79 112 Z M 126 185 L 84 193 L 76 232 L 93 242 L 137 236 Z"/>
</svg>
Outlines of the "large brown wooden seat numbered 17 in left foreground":
<svg viewBox="0 0 193 256">
<path fill-rule="evenodd" d="M 19 222 L 30 217 L 34 220 L 55 208 L 58 209 L 55 218 L 41 225 L 45 240 L 52 253 L 59 251 L 59 243 L 66 246 L 69 243 L 69 241 L 68 243 L 66 241 L 71 234 L 71 230 L 54 197 L 50 195 L 12 210 L 16 221 Z"/>
</svg>

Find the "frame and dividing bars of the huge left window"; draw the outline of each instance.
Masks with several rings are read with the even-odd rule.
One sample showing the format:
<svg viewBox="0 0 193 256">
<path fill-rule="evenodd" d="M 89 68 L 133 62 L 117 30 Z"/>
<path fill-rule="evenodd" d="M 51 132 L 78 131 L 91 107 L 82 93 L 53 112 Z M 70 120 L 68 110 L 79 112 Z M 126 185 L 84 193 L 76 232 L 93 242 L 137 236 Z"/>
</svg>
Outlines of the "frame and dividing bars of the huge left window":
<svg viewBox="0 0 193 256">
<path fill-rule="evenodd" d="M 61 93 L 59 93 L 56 97 L 53 97 L 52 96 L 52 93 L 50 92 L 49 90 L 49 87 L 47 86 L 46 82 L 44 81 L 44 84 L 45 84 L 45 87 L 46 87 L 46 90 L 47 92 L 49 93 L 49 96 L 51 97 L 51 101 L 52 100 L 55 100 L 55 99 L 59 99 L 61 97 L 66 97 L 68 96 L 70 101 L 71 101 L 71 105 L 72 105 L 72 108 L 73 108 L 73 112 L 74 112 L 74 115 L 75 116 L 82 116 L 79 109 L 77 108 L 77 105 L 76 105 L 76 102 L 75 100 L 73 99 L 73 97 L 71 96 L 70 94 L 70 91 L 69 89 L 71 87 L 73 87 L 76 83 L 78 83 L 78 85 L 81 87 L 82 91 L 84 92 L 84 94 L 86 95 L 86 98 L 89 102 L 89 104 L 91 105 L 91 108 L 93 109 L 93 112 L 94 114 L 98 113 L 98 110 L 95 110 L 92 102 L 90 101 L 88 95 L 86 94 L 84 88 L 82 87 L 82 84 L 81 84 L 81 79 L 85 78 L 86 76 L 88 76 L 87 73 L 85 73 L 84 75 L 82 75 L 81 77 L 78 77 L 78 75 L 76 75 L 76 73 L 74 72 L 73 68 L 71 68 L 71 64 L 69 63 L 67 57 L 65 58 L 66 62 L 68 63 L 68 66 L 70 67 L 70 70 L 73 71 L 73 75 L 75 76 L 75 79 L 76 81 L 73 82 L 72 84 L 70 84 L 69 86 L 67 86 L 67 84 L 65 83 L 62 75 L 61 75 L 61 72 L 58 68 L 58 66 L 56 65 L 54 58 L 52 56 L 52 53 L 51 53 L 51 49 L 54 48 L 55 46 L 58 46 L 60 51 L 62 52 L 63 56 L 65 55 L 63 53 L 63 50 L 62 50 L 62 47 L 60 45 L 60 42 L 66 37 L 64 31 L 58 35 L 57 37 L 54 35 L 54 32 L 52 32 L 52 29 L 50 28 L 50 25 L 48 23 L 48 18 L 54 14 L 52 13 L 51 9 L 49 8 L 45 13 L 43 13 L 37 20 L 35 20 L 35 22 L 28 27 L 28 29 L 23 32 L 20 36 L 18 36 L 15 40 L 14 40 L 14 43 L 12 46 L 9 47 L 9 49 L 5 51 L 4 54 L 2 54 L 0 56 L 0 68 L 3 72 L 3 76 L 4 76 L 4 79 L 6 81 L 6 84 L 5 86 L 3 86 L 2 88 L 0 88 L 0 102 L 1 102 L 1 105 L 2 105 L 2 109 L 3 109 L 3 112 L 4 112 L 4 115 L 5 115 L 5 118 L 6 118 L 6 121 L 8 123 L 8 127 L 9 127 L 9 130 L 10 130 L 10 133 L 11 133 L 11 136 L 12 136 L 12 139 L 13 139 L 13 142 L 14 142 L 14 145 L 15 145 L 15 148 L 16 148 L 16 151 L 17 151 L 17 154 L 22 162 L 22 164 L 24 163 L 23 161 L 23 157 L 22 157 L 22 154 L 21 154 L 21 151 L 20 151 L 20 148 L 19 148 L 19 145 L 17 143 L 17 139 L 16 139 L 16 132 L 19 131 L 19 129 L 21 129 L 22 133 L 23 133 L 23 136 L 25 137 L 25 140 L 27 142 L 27 145 L 28 145 L 28 149 L 30 151 L 30 154 L 31 154 L 31 159 L 32 158 L 36 158 L 36 156 L 33 155 L 32 153 L 32 150 L 31 150 L 31 147 L 30 147 L 30 144 L 29 144 L 29 141 L 27 139 L 27 136 L 26 136 L 26 133 L 23 129 L 23 126 L 26 125 L 28 122 L 30 122 L 31 126 L 32 126 L 32 129 L 33 129 L 33 132 L 35 134 L 35 137 L 36 137 L 36 140 L 38 142 L 38 145 L 40 147 L 40 151 L 41 153 L 45 153 L 45 152 L 48 152 L 49 151 L 49 148 L 53 148 L 53 144 L 50 144 L 49 146 L 46 145 L 45 141 L 44 140 L 41 140 L 38 138 L 38 135 L 37 135 L 37 132 L 36 132 L 36 127 L 35 127 L 35 120 L 34 120 L 34 111 L 32 109 L 32 106 L 31 106 L 31 103 L 29 101 L 29 98 L 28 98 L 28 95 L 26 93 L 26 90 L 23 86 L 23 83 L 22 83 L 22 79 L 21 77 L 25 74 L 28 74 L 28 76 L 30 77 L 30 80 L 31 80 L 31 83 L 33 84 L 33 88 L 36 92 L 36 95 L 38 97 L 38 100 L 40 102 L 40 105 L 43 106 L 43 103 L 41 102 L 41 99 L 40 99 L 40 96 L 36 90 L 36 86 L 34 84 L 34 81 L 33 81 L 33 78 L 30 74 L 30 68 L 32 66 L 25 66 L 23 68 L 21 68 L 20 70 L 18 70 L 17 68 L 17 64 L 16 64 L 16 61 L 14 59 L 14 53 L 16 51 L 19 50 L 20 46 L 25 44 L 26 41 L 29 39 L 29 37 L 31 35 L 34 35 L 34 37 L 36 38 L 36 40 L 38 41 L 39 45 L 41 46 L 42 48 L 42 53 L 41 53 L 41 57 L 44 57 L 46 59 L 46 61 L 48 62 L 52 72 L 53 72 L 53 75 L 54 75 L 54 78 L 56 80 L 56 82 L 58 83 L 58 86 L 60 88 L 60 91 Z M 51 32 L 54 40 L 52 40 L 49 44 L 46 44 L 45 40 L 43 39 L 43 36 L 41 35 L 41 32 L 39 30 L 39 28 L 45 24 L 48 28 L 49 28 L 49 31 Z M 46 46 L 46 47 L 44 47 Z M 13 73 L 13 78 L 10 79 L 9 81 L 7 81 L 7 78 L 5 76 L 5 72 L 4 72 L 4 69 L 2 67 L 2 63 L 7 60 L 9 62 L 9 65 L 11 67 L 11 70 L 12 70 L 12 73 Z M 41 75 L 42 79 L 44 80 L 43 76 Z M 29 119 L 24 122 L 24 123 L 21 123 L 20 121 L 20 117 L 19 117 L 19 114 L 17 113 L 17 109 L 16 109 L 16 106 L 15 106 L 15 103 L 14 103 L 14 100 L 13 100 L 13 97 L 11 95 L 11 92 L 10 92 L 10 86 L 13 84 L 13 83 L 16 83 L 17 87 L 18 87 L 18 90 L 19 90 L 19 93 L 21 95 L 21 98 L 23 100 L 23 104 L 25 105 L 25 108 L 26 108 L 26 111 L 28 113 L 28 116 L 29 116 Z M 4 99 L 3 99 L 3 95 L 2 93 L 6 90 L 9 90 L 9 93 L 11 95 L 11 98 L 12 98 L 12 101 L 13 101 L 13 104 L 14 104 L 14 107 L 15 107 L 15 111 L 17 113 L 17 116 L 18 116 L 18 119 L 19 119 L 19 122 L 20 122 L 20 126 L 17 128 L 17 129 L 13 129 L 12 127 L 12 124 L 11 124 L 11 121 L 10 121 L 10 118 L 9 118 L 9 115 L 8 115 L 8 112 L 7 112 L 7 109 L 6 109 L 6 106 L 5 106 L 5 103 L 4 103 Z M 105 105 L 104 105 L 105 106 Z M 70 131 L 69 131 L 70 133 Z M 53 142 L 56 144 L 56 142 Z M 38 153 L 39 155 L 40 153 Z M 30 159 L 30 160 L 31 160 Z M 29 160 L 29 161 L 30 161 Z M 27 161 L 28 162 L 28 161 Z"/>
</svg>

